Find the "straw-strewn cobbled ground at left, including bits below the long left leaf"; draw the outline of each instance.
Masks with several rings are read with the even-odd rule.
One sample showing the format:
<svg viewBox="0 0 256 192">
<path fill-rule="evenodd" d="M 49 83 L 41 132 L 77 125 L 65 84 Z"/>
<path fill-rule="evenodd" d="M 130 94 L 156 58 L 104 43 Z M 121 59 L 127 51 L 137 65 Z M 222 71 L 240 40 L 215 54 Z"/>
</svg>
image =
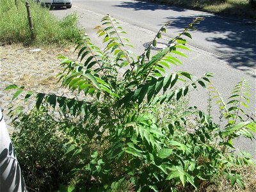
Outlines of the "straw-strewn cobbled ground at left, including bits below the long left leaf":
<svg viewBox="0 0 256 192">
<path fill-rule="evenodd" d="M 42 51 L 32 51 L 41 49 Z M 4 120 L 10 126 L 10 117 L 8 107 L 17 106 L 22 103 L 21 97 L 12 100 L 13 90 L 4 91 L 4 88 L 10 84 L 25 86 L 26 90 L 44 93 L 68 94 L 68 90 L 60 89 L 60 83 L 56 74 L 61 72 L 60 60 L 57 55 L 63 54 L 68 58 L 75 60 L 76 53 L 74 47 L 64 48 L 44 48 L 44 47 L 23 47 L 21 44 L 0 46 L 0 106 L 4 109 Z M 34 100 L 22 106 L 30 109 L 34 106 Z"/>
</svg>

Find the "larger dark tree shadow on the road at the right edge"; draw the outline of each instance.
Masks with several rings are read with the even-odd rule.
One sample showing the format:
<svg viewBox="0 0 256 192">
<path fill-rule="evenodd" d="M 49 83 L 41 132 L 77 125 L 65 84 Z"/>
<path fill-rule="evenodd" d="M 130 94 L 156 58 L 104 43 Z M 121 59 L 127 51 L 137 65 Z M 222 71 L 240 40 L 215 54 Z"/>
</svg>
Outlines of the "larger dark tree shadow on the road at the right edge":
<svg viewBox="0 0 256 192">
<path fill-rule="evenodd" d="M 191 17 L 166 17 L 166 22 L 173 20 L 170 28 L 184 29 L 195 17 L 204 17 L 205 20 L 197 26 L 201 33 L 213 33 L 215 36 L 205 38 L 214 43 L 214 51 L 219 52 L 229 65 L 242 68 L 243 65 L 255 68 L 256 61 L 256 22 L 233 20 L 216 17 L 214 15 L 193 15 Z M 195 32 L 196 33 L 196 32 Z M 254 75 L 254 77 L 256 77 Z"/>
</svg>

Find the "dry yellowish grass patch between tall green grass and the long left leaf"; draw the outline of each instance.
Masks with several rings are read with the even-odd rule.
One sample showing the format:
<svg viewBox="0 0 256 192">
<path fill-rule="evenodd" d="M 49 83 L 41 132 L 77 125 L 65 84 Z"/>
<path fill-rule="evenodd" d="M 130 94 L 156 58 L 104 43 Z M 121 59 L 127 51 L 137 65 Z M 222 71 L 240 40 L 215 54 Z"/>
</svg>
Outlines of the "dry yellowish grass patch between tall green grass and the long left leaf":
<svg viewBox="0 0 256 192">
<path fill-rule="evenodd" d="M 37 92 L 54 92 L 60 88 L 56 78 L 56 74 L 61 72 L 57 55 L 63 54 L 74 60 L 74 48 L 42 47 L 42 51 L 31 51 L 36 48 L 26 48 L 21 44 L 0 47 L 3 84 L 13 83 Z"/>
</svg>

